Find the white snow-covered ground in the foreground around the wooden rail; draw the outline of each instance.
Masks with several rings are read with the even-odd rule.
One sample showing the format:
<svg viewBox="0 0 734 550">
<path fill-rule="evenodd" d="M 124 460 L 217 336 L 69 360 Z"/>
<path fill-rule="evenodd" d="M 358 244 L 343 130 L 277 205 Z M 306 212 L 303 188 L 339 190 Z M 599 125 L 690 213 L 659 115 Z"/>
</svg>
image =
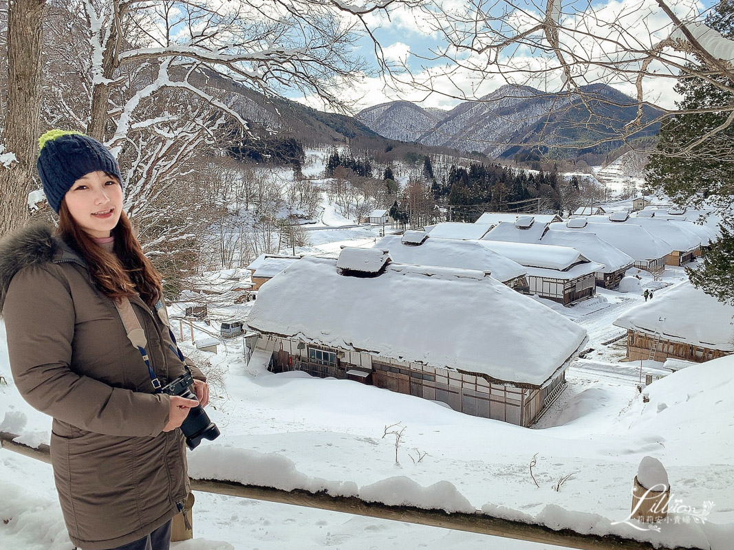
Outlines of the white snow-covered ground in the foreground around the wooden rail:
<svg viewBox="0 0 734 550">
<path fill-rule="evenodd" d="M 370 240 L 368 235 L 346 237 L 366 246 Z M 344 242 L 331 246 L 338 250 L 339 244 Z M 644 403 L 636 389 L 639 364 L 619 363 L 623 340 L 603 343 L 623 333 L 611 321 L 639 304 L 639 289 L 655 288 L 654 299 L 665 299 L 665 287 L 683 277 L 678 268 L 667 269 L 658 281 L 642 273 L 632 293 L 599 290 L 595 298 L 570 308 L 544 301 L 589 331 L 593 351 L 570 368 L 567 389 L 535 429 L 470 417 L 351 381 L 274 375 L 248 367 L 241 339 L 228 340 L 218 355 L 208 355 L 225 381 L 209 407 L 222 436 L 189 453 L 190 472 L 286 489 L 327 489 L 388 504 L 484 510 L 666 545 L 730 549 L 734 359 L 669 375 L 645 390 L 650 401 Z M 1 325 L 0 342 L 0 375 L 7 380 L 0 385 L 0 430 L 21 433 L 21 441 L 29 444 L 48 442 L 50 419 L 29 408 L 12 384 Z M 184 353 L 191 351 L 182 347 Z M 644 365 L 644 371 L 653 366 Z M 394 437 L 382 437 L 385 426 L 396 422 L 406 428 L 399 463 Z M 420 461 L 419 453 L 426 453 Z M 661 532 L 625 524 L 633 477 L 646 455 L 668 469 L 673 498 L 694 509 L 673 514 L 677 520 L 664 524 Z M 529 473 L 534 457 L 539 486 Z M 196 496 L 196 538 L 175 546 L 182 550 L 553 548 L 234 497 Z M 8 520 L 0 524 L 0 549 L 72 548 L 50 467 L 0 450 L 0 497 L 0 516 Z M 713 502 L 710 511 L 705 502 Z"/>
</svg>

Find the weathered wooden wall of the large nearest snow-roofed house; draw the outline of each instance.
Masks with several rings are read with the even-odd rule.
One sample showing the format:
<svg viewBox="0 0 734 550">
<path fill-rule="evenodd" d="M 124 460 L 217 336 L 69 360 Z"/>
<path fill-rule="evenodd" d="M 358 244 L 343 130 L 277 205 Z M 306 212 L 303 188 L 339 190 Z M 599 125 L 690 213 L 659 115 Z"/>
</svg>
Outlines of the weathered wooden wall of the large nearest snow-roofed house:
<svg viewBox="0 0 734 550">
<path fill-rule="evenodd" d="M 367 378 L 374 386 L 390 389 L 424 399 L 441 401 L 454 411 L 476 417 L 491 418 L 528 426 L 546 406 L 546 389 L 527 389 L 512 384 L 493 384 L 479 375 L 454 370 L 428 367 L 419 363 L 399 362 L 395 359 L 371 356 L 357 351 L 339 351 L 304 342 L 270 337 L 274 349 L 271 370 L 275 373 L 302 370 L 313 376 L 347 378 L 352 369 L 371 373 Z M 308 348 L 337 353 L 337 364 L 316 364 L 308 357 Z M 565 381 L 561 373 L 553 381 L 553 388 Z"/>
</svg>

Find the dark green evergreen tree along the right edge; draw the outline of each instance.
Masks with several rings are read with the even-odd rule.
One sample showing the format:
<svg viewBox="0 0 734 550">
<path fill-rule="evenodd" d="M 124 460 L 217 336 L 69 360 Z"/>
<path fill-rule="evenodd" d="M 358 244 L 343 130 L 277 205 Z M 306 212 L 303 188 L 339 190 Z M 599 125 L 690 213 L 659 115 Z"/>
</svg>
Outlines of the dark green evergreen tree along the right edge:
<svg viewBox="0 0 734 550">
<path fill-rule="evenodd" d="M 734 0 L 722 0 L 706 19 L 722 36 L 734 38 Z M 708 70 L 702 59 L 691 65 Z M 731 85 L 723 76 L 711 77 Z M 680 109 L 731 108 L 734 95 L 703 78 L 683 78 L 675 86 L 683 96 Z M 678 114 L 661 125 L 656 153 L 647 163 L 647 183 L 661 188 L 679 205 L 700 205 L 704 199 L 724 209 L 721 239 L 705 257 L 700 270 L 688 277 L 706 293 L 734 304 L 734 224 L 726 211 L 734 196 L 734 125 L 708 136 L 722 126 L 731 111 Z M 730 210 L 729 210 L 730 211 Z M 727 217 L 728 216 L 728 217 Z"/>
</svg>

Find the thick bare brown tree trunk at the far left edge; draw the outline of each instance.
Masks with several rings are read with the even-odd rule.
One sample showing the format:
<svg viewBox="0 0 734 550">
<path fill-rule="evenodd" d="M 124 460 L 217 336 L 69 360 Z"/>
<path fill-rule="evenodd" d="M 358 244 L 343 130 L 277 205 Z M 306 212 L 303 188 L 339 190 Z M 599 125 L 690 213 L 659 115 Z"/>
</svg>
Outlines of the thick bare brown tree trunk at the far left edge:
<svg viewBox="0 0 734 550">
<path fill-rule="evenodd" d="M 7 16 L 7 113 L 2 142 L 17 162 L 0 166 L 0 236 L 28 221 L 41 106 L 46 0 L 11 0 Z"/>
</svg>

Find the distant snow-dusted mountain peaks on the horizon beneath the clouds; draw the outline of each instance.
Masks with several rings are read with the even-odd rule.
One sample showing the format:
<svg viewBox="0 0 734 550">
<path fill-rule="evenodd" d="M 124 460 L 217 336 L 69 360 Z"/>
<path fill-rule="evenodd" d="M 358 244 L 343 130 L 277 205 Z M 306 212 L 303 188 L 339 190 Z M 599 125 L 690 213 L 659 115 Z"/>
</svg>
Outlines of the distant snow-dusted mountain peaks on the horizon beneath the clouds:
<svg viewBox="0 0 734 550">
<path fill-rule="evenodd" d="M 619 147 L 622 138 L 658 133 L 654 121 L 661 111 L 645 106 L 640 129 L 630 134 L 625 125 L 637 114 L 632 98 L 606 84 L 580 92 L 547 93 L 508 84 L 450 111 L 393 101 L 360 111 L 357 120 L 389 139 L 479 151 L 490 158 L 604 153 Z"/>
</svg>

